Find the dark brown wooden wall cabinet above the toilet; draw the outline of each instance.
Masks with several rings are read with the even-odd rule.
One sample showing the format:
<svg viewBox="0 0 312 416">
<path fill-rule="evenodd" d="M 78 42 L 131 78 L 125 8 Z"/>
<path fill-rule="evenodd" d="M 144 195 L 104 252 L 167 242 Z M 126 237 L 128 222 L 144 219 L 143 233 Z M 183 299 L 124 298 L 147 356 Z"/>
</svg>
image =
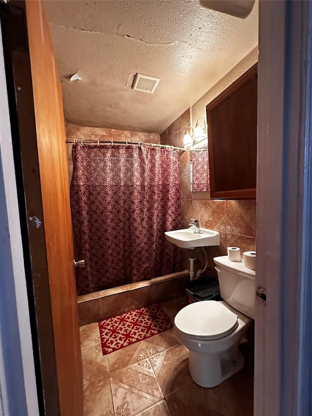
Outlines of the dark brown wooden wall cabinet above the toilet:
<svg viewBox="0 0 312 416">
<path fill-rule="evenodd" d="M 206 107 L 212 199 L 255 199 L 257 64 Z"/>
</svg>

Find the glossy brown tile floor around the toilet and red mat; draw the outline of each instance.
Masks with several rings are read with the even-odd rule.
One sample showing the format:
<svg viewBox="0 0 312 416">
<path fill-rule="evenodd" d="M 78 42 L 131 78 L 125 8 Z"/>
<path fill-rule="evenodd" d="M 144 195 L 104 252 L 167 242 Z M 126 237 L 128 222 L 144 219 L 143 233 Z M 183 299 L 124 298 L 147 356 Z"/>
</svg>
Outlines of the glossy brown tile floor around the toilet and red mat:
<svg viewBox="0 0 312 416">
<path fill-rule="evenodd" d="M 171 319 L 186 304 L 161 303 Z M 191 379 L 187 350 L 173 330 L 103 356 L 98 323 L 80 328 L 84 416 L 252 416 L 253 347 L 242 344 L 245 367 L 217 387 Z"/>
</svg>

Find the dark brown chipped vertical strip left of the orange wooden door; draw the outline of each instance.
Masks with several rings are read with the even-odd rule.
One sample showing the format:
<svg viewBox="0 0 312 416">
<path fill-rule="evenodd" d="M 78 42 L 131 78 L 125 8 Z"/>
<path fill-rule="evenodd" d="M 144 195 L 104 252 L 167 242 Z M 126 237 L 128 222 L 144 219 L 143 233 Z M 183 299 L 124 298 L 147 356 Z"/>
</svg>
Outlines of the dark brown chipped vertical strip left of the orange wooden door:
<svg viewBox="0 0 312 416">
<path fill-rule="evenodd" d="M 0 3 L 0 12 L 39 412 L 58 416 L 59 388 L 25 3 Z"/>
</svg>

